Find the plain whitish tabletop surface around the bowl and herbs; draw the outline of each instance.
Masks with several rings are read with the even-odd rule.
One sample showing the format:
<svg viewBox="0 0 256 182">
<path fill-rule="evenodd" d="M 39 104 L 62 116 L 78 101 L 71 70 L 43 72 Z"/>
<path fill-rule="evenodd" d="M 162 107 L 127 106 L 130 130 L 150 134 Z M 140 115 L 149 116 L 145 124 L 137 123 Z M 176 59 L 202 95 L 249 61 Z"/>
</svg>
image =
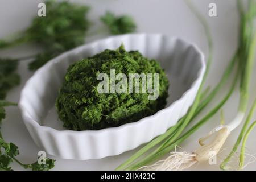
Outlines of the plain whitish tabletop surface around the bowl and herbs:
<svg viewBox="0 0 256 182">
<path fill-rule="evenodd" d="M 24 30 L 30 25 L 32 17 L 37 14 L 37 5 L 41 2 L 39 0 L 0 0 L 0 38 L 10 35 L 16 31 Z M 98 18 L 104 14 L 106 10 L 114 11 L 117 14 L 130 14 L 134 17 L 138 24 L 138 32 L 154 33 L 159 32 L 171 36 L 180 36 L 190 42 L 196 43 L 207 54 L 207 42 L 204 37 L 204 32 L 200 23 L 191 13 L 183 1 L 180 0 L 91 0 L 91 1 L 71 1 L 83 3 L 92 7 L 89 17 L 94 24 L 91 31 L 97 30 L 101 26 Z M 207 85 L 214 86 L 228 64 L 237 46 L 238 33 L 238 16 L 236 11 L 235 0 L 196 0 L 193 1 L 207 18 L 210 28 L 212 30 L 214 39 L 214 59 L 210 69 L 210 74 L 207 80 Z M 217 4 L 217 17 L 210 18 L 208 16 L 208 5 L 210 2 Z M 104 36 L 104 35 L 102 35 Z M 99 36 L 100 37 L 100 36 Z M 88 41 L 95 38 L 88 39 Z M 29 53 L 37 51 L 33 46 L 17 47 L 7 51 L 0 51 L 1 57 L 17 57 L 25 56 Z M 19 92 L 22 89 L 26 80 L 32 76 L 32 72 L 27 70 L 27 61 L 24 61 L 19 66 L 19 73 L 22 75 L 22 84 L 17 88 L 11 90 L 7 100 L 18 102 Z M 254 69 L 255 70 L 255 69 Z M 256 97 L 256 72 L 253 72 L 253 79 L 251 82 L 250 105 Z M 220 92 L 215 100 L 210 103 L 207 109 L 201 113 L 203 116 L 207 111 L 214 106 L 224 96 L 228 90 L 228 85 Z M 238 89 L 233 94 L 232 98 L 224 106 L 224 113 L 226 121 L 230 121 L 236 114 L 238 105 Z M 199 117 L 199 118 L 200 118 Z M 198 121 L 197 118 L 196 120 Z M 254 114 L 256 119 L 256 114 Z M 182 151 L 192 152 L 199 144 L 197 140 L 208 133 L 210 129 L 220 123 L 220 114 L 216 114 L 210 121 L 200 128 L 195 134 L 189 137 L 183 144 L 181 144 Z M 37 147 L 32 141 L 27 132 L 26 127 L 22 122 L 19 110 L 16 107 L 7 108 L 7 118 L 2 125 L 3 137 L 8 142 L 13 142 L 19 146 L 20 155 L 18 158 L 23 163 L 34 162 L 37 158 L 37 153 L 41 148 Z M 233 146 L 240 129 L 235 130 L 228 138 L 224 145 L 224 151 L 218 155 L 218 164 L 222 161 L 225 155 Z M 251 133 L 247 141 L 247 150 L 249 154 L 256 154 L 256 129 Z M 138 150 L 138 149 L 137 149 Z M 134 154 L 136 150 L 125 152 L 122 155 L 112 156 L 97 160 L 63 160 L 59 158 L 56 162 L 55 170 L 112 170 L 121 164 L 125 159 Z M 239 150 L 238 150 L 239 151 Z M 236 160 L 235 160 L 236 161 Z M 18 164 L 13 164 L 13 169 L 22 169 Z M 201 163 L 192 170 L 218 170 L 218 165 L 209 166 L 208 163 Z M 256 163 L 250 164 L 246 169 L 255 170 Z"/>
</svg>

